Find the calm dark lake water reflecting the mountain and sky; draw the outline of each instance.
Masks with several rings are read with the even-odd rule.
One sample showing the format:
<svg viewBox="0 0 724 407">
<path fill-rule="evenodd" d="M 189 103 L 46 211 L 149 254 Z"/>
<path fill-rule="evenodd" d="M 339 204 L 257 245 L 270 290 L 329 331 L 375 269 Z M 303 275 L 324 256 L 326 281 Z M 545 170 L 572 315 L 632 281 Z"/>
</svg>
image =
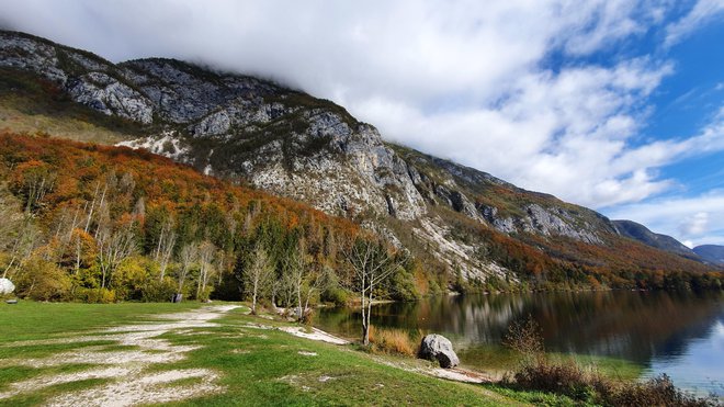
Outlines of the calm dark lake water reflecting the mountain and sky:
<svg viewBox="0 0 724 407">
<path fill-rule="evenodd" d="M 315 325 L 357 338 L 361 331 L 359 313 L 350 308 L 323 308 Z M 376 305 L 372 324 L 444 335 L 453 342 L 464 365 L 485 369 L 490 349 L 499 346 L 508 326 L 529 315 L 541 326 L 546 351 L 623 359 L 642 366 L 647 376 L 666 373 L 682 388 L 724 396 L 722 293 L 433 297 Z"/>
</svg>

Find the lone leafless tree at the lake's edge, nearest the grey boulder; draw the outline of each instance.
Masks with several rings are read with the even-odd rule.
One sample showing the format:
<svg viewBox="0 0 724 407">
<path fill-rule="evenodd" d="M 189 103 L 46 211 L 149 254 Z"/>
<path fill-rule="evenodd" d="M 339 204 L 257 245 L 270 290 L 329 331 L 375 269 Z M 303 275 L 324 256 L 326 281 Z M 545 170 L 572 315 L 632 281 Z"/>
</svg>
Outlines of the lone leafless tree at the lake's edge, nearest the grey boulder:
<svg viewBox="0 0 724 407">
<path fill-rule="evenodd" d="M 362 303 L 362 343 L 367 346 L 374 289 L 397 271 L 399 263 L 382 242 L 372 239 L 357 238 L 344 255 L 352 269 L 347 284 Z"/>
</svg>

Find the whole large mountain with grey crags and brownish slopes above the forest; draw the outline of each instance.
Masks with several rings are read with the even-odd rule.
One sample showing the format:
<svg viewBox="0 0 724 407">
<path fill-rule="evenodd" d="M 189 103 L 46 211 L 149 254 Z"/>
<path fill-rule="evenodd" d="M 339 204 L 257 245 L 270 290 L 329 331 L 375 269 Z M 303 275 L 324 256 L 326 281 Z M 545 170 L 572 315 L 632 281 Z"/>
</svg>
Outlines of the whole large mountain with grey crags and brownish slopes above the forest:
<svg viewBox="0 0 724 407">
<path fill-rule="evenodd" d="M 629 239 L 595 211 L 386 143 L 343 108 L 269 80 L 173 59 L 112 64 L 13 32 L 0 32 L 0 102 L 20 105 L 12 114 L 31 128 L 35 103 L 52 129 L 69 127 L 65 112 L 86 115 L 106 132 L 88 138 L 108 134 L 95 142 L 354 219 L 410 251 L 442 290 L 648 286 L 668 284 L 663 270 L 709 270 Z"/>
</svg>

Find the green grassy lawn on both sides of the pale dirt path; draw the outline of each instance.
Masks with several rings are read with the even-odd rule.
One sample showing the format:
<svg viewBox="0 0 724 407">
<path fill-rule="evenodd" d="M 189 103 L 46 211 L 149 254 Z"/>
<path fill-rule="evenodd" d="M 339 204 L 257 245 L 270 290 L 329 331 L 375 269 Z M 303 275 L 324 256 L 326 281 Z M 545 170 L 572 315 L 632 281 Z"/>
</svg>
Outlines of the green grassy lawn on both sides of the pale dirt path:
<svg viewBox="0 0 724 407">
<path fill-rule="evenodd" d="M 109 341 L 99 330 L 124 324 L 152 321 L 155 314 L 190 310 L 201 304 L 39 304 L 21 302 L 0 306 L 0 395 L 14 382 L 99 369 L 99 365 L 60 364 L 41 368 L 13 365 L 13 360 L 47 358 L 64 352 L 137 351 L 134 346 Z M 197 347 L 183 358 L 168 363 L 144 365 L 143 374 L 202 369 L 218 376 L 215 384 L 223 391 L 194 396 L 170 405 L 511 405 L 530 402 L 521 394 L 501 395 L 505 389 L 463 384 L 430 377 L 409 370 L 429 369 L 425 361 L 378 357 L 360 351 L 355 346 L 333 346 L 294 337 L 275 330 L 284 323 L 245 314 L 236 308 L 214 320 L 217 326 L 170 330 L 160 339 L 172 346 Z M 156 318 L 158 319 L 158 318 Z M 256 326 L 263 325 L 262 329 Z M 72 338 L 92 331 L 98 341 L 34 344 L 33 340 Z M 94 338 L 92 338 L 94 339 Z M 22 343 L 15 341 L 31 342 Z M 13 343 L 15 342 L 15 343 Z M 160 350 L 159 350 L 160 352 Z M 152 350 L 147 351 L 152 355 Z M 108 366 L 108 365 L 106 365 Z M 405 369 L 400 369 L 405 368 Z M 195 386 L 197 378 L 183 378 L 162 384 L 184 388 Z M 0 398 L 0 405 L 26 406 L 48 403 L 53 397 L 75 392 L 102 388 L 113 378 L 86 378 L 59 383 L 22 394 Z M 0 396 L 1 397 L 1 396 Z M 518 399 L 513 400 L 511 397 Z M 527 398 L 528 397 L 528 398 Z"/>
</svg>

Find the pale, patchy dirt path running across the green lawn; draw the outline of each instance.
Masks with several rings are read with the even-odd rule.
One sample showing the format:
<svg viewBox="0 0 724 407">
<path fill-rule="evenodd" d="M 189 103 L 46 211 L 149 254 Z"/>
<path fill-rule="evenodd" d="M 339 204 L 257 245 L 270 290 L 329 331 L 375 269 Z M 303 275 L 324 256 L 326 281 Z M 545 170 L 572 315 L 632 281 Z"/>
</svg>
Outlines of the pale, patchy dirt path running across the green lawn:
<svg viewBox="0 0 724 407">
<path fill-rule="evenodd" d="M 82 337 L 14 342 L 12 347 L 55 343 L 77 343 L 111 340 L 118 346 L 133 347 L 129 350 L 105 350 L 108 346 L 84 347 L 78 350 L 56 353 L 48 358 L 11 359 L 1 361 L 2 366 L 46 368 L 88 363 L 93 368 L 76 373 L 42 375 L 10 384 L 0 393 L 0 400 L 23 393 L 61 383 L 91 378 L 106 378 L 102 385 L 80 392 L 61 394 L 50 400 L 49 406 L 133 406 L 181 400 L 202 394 L 222 392 L 216 384 L 217 374 L 206 369 L 170 370 L 150 372 L 148 368 L 171 363 L 185 358 L 185 353 L 197 349 L 195 346 L 174 346 L 157 338 L 167 332 L 190 333 L 192 328 L 216 327 L 211 320 L 236 308 L 235 305 L 205 307 L 197 310 L 155 315 L 148 324 L 124 325 L 91 332 Z M 183 385 L 173 385 L 182 381 Z"/>
</svg>

